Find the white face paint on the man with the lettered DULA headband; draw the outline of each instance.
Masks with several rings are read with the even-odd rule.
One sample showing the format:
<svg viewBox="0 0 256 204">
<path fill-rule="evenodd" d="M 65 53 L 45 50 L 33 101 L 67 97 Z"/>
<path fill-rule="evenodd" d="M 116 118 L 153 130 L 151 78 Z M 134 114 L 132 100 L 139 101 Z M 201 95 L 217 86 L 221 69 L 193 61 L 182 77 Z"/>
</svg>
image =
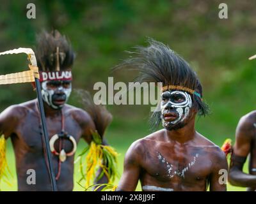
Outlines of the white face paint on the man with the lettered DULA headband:
<svg viewBox="0 0 256 204">
<path fill-rule="evenodd" d="M 42 82 L 42 89 L 41 89 L 41 93 L 42 93 L 42 98 L 43 100 L 45 101 L 45 103 L 47 103 L 47 105 L 51 106 L 52 108 L 54 109 L 59 109 L 59 108 L 62 108 L 63 105 L 55 105 L 53 103 L 53 98 L 56 98 L 58 93 L 62 93 L 62 96 L 61 98 L 62 99 L 65 99 L 65 103 L 67 103 L 68 101 L 68 98 L 70 96 L 70 93 L 72 91 L 72 85 L 71 85 L 71 82 L 70 82 L 70 85 L 68 88 L 65 88 L 63 87 L 63 85 L 60 85 L 58 87 L 56 87 L 55 89 L 51 89 L 51 88 L 48 88 L 47 87 L 47 83 L 49 83 L 51 81 L 44 81 Z"/>
</svg>

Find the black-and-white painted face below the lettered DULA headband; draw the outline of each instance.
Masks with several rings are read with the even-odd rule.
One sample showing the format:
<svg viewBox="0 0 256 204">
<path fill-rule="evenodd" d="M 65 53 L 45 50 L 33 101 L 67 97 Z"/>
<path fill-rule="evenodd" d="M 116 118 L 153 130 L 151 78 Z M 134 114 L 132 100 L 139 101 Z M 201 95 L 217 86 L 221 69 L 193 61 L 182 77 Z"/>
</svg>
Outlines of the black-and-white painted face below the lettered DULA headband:
<svg viewBox="0 0 256 204">
<path fill-rule="evenodd" d="M 48 80 L 42 82 L 42 98 L 47 105 L 54 109 L 60 109 L 68 101 L 72 90 L 70 80 Z"/>
</svg>

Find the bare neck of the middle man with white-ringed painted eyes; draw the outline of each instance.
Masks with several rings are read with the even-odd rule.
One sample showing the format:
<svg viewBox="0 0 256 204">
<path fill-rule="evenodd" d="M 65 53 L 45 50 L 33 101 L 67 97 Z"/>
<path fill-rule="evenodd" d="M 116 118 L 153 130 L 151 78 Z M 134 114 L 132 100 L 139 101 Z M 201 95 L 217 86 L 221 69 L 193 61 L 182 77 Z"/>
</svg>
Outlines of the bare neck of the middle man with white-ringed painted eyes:
<svg viewBox="0 0 256 204">
<path fill-rule="evenodd" d="M 167 130 L 165 131 L 166 136 L 169 140 L 179 142 L 179 143 L 185 143 L 189 140 L 193 140 L 195 138 L 195 118 L 190 120 L 186 126 L 180 129 L 175 130 Z"/>
</svg>

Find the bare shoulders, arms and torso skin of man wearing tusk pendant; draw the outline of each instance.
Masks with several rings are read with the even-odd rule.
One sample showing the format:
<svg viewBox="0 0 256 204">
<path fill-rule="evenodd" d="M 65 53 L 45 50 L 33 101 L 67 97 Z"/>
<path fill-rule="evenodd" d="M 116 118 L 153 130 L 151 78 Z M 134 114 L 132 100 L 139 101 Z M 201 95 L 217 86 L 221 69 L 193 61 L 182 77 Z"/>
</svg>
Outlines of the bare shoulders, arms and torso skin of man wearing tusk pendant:
<svg viewBox="0 0 256 204">
<path fill-rule="evenodd" d="M 54 88 L 54 87 L 52 87 Z M 61 109 L 55 110 L 44 103 L 46 124 L 49 137 L 61 132 Z M 72 135 L 78 143 L 83 138 L 87 143 L 92 141 L 91 131 L 95 131 L 95 124 L 88 113 L 80 108 L 64 105 L 65 131 Z M 12 105 L 0 114 L 0 130 L 6 139 L 11 138 L 15 152 L 16 170 L 19 191 L 51 191 L 51 182 L 45 154 L 42 146 L 42 127 L 38 113 L 37 99 Z M 55 149 L 58 150 L 58 141 Z M 72 150 L 72 143 L 64 141 L 65 152 Z M 58 156 L 52 154 L 52 164 L 55 175 L 58 173 Z M 36 184 L 29 185 L 26 179 L 28 169 L 36 171 Z M 60 178 L 56 181 L 58 191 L 72 191 L 74 173 L 74 155 L 68 156 L 61 163 Z M 106 176 L 99 183 L 106 183 Z"/>
</svg>

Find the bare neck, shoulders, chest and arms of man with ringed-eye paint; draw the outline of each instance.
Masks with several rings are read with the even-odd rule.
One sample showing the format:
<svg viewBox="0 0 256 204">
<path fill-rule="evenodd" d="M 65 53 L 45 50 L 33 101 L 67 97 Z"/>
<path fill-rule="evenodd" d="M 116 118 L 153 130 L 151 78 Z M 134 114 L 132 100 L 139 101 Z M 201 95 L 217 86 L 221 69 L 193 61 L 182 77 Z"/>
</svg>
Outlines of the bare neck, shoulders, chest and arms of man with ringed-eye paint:
<svg viewBox="0 0 256 204">
<path fill-rule="evenodd" d="M 206 191 L 208 184 L 210 191 L 226 191 L 219 183 L 219 170 L 228 168 L 225 154 L 195 131 L 195 116 L 192 107 L 182 128 L 164 128 L 132 143 L 117 191 L 134 191 L 139 180 L 144 191 Z"/>
</svg>

